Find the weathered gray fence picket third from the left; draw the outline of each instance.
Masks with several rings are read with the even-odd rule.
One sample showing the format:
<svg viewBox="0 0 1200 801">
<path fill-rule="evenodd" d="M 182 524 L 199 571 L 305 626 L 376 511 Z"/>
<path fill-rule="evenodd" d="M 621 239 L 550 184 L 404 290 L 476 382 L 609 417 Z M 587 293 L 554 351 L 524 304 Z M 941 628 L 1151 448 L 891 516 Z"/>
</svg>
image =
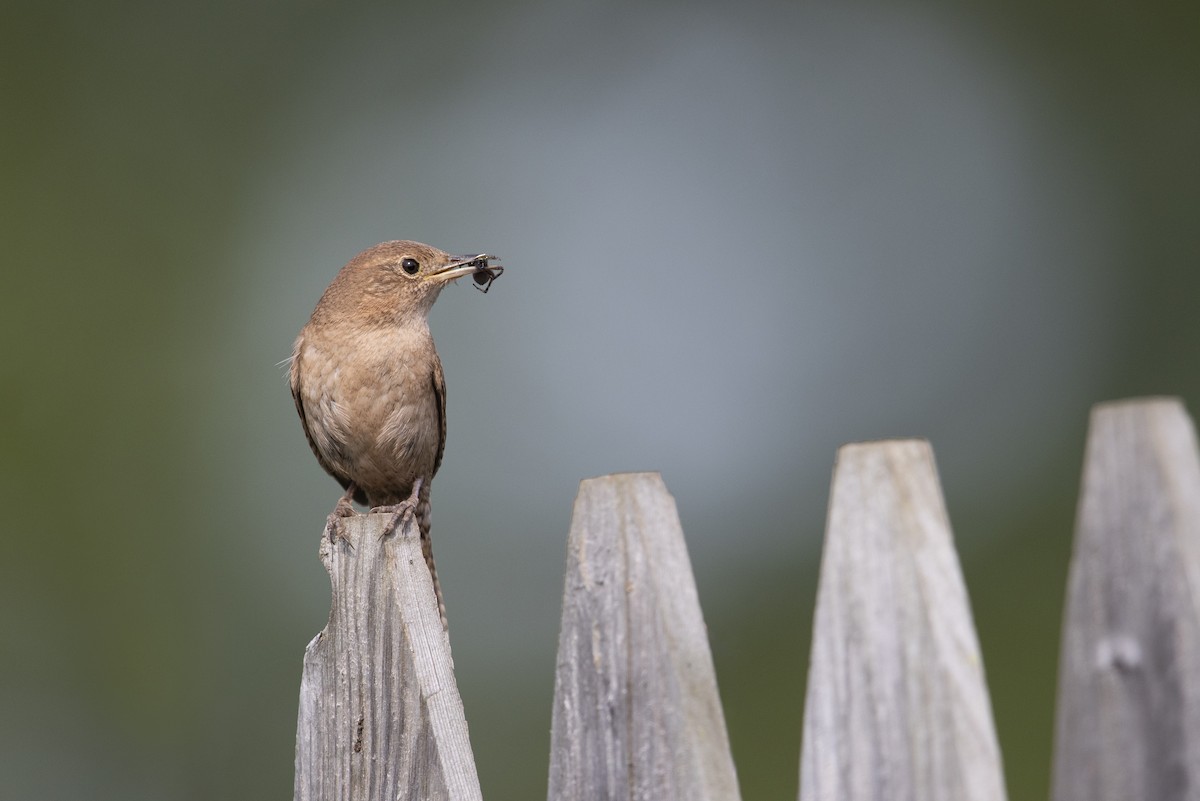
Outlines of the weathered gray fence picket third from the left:
<svg viewBox="0 0 1200 801">
<path fill-rule="evenodd" d="M 928 442 L 838 452 L 799 797 L 1006 797 L 979 644 Z"/>
</svg>

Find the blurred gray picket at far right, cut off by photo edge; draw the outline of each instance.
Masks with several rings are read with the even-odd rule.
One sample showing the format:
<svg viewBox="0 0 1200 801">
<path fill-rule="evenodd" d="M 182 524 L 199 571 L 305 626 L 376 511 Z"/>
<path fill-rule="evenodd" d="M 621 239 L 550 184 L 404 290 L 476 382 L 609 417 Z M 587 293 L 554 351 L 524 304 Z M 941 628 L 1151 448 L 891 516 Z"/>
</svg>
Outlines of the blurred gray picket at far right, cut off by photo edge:
<svg viewBox="0 0 1200 801">
<path fill-rule="evenodd" d="M 1177 399 L 1092 410 L 1055 739 L 1055 801 L 1200 799 L 1200 457 Z"/>
</svg>

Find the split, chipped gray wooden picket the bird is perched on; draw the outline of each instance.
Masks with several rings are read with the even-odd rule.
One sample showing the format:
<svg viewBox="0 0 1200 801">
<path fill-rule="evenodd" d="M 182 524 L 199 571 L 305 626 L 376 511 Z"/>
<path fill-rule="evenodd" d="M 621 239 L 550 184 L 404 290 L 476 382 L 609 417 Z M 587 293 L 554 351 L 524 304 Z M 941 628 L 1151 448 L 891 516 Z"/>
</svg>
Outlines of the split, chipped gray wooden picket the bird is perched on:
<svg viewBox="0 0 1200 801">
<path fill-rule="evenodd" d="M 296 801 L 480 799 L 450 642 L 412 523 L 347 518 L 323 537 L 329 624 L 305 651 Z"/>
</svg>

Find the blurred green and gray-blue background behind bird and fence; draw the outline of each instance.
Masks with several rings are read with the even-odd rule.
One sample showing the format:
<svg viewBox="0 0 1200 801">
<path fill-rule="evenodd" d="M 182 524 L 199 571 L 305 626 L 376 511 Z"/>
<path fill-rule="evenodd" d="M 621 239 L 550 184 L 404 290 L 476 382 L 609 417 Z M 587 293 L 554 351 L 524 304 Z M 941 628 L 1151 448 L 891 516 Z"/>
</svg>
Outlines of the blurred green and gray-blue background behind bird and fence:
<svg viewBox="0 0 1200 801">
<path fill-rule="evenodd" d="M 278 365 L 358 251 L 432 325 L 484 793 L 545 795 L 577 481 L 679 504 L 744 797 L 797 789 L 829 471 L 928 436 L 1048 794 L 1088 408 L 1200 398 L 1200 48 L 1151 2 L 7 2 L 0 795 L 292 787 L 338 490 Z"/>
</svg>

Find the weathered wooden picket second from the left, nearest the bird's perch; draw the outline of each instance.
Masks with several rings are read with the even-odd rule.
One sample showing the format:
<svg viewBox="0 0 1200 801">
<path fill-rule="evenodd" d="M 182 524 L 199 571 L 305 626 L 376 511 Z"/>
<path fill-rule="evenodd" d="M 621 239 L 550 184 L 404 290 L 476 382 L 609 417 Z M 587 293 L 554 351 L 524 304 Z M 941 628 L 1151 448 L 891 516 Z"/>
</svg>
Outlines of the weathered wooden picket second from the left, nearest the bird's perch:
<svg viewBox="0 0 1200 801">
<path fill-rule="evenodd" d="M 739 797 L 683 529 L 654 472 L 580 486 L 548 797 Z"/>
</svg>

